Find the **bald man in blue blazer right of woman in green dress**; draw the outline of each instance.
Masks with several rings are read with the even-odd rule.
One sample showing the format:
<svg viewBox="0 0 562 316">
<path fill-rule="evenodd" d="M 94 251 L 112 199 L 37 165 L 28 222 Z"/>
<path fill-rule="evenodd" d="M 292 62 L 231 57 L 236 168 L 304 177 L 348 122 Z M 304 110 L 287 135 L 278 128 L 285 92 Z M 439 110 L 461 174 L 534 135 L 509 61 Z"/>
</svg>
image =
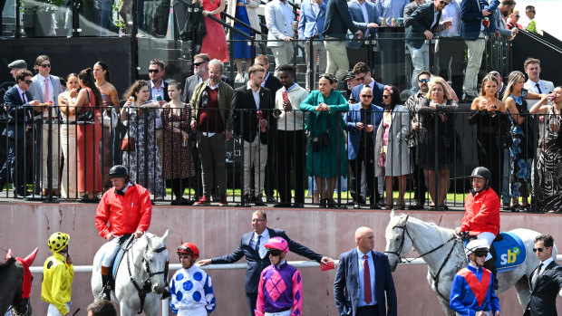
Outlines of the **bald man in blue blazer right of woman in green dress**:
<svg viewBox="0 0 562 316">
<path fill-rule="evenodd" d="M 374 105 L 373 90 L 364 87 L 359 95 L 360 103 L 349 106 L 344 122 L 347 130 L 347 159 L 351 169 L 350 181 L 354 187 L 354 208 L 361 208 L 361 174 L 365 165 L 365 180 L 371 193 L 370 208 L 381 208 L 377 201 L 378 181 L 374 177 L 374 142 L 379 124 L 383 120 L 383 108 Z"/>
</svg>

